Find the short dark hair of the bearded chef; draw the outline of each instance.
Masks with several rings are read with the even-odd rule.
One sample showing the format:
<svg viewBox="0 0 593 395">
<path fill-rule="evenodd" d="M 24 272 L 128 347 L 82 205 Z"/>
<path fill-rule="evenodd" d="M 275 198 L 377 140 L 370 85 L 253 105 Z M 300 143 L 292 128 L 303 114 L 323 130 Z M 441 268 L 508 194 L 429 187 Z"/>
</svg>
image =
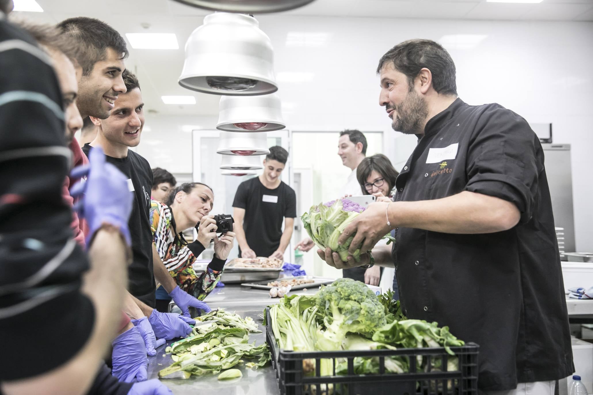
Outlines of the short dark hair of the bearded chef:
<svg viewBox="0 0 593 395">
<path fill-rule="evenodd" d="M 455 63 L 447 50 L 436 41 L 415 38 L 397 44 L 381 57 L 377 73 L 387 62 L 407 76 L 410 88 L 414 86 L 414 79 L 420 70 L 427 68 L 431 70 L 432 87 L 438 94 L 457 95 Z"/>
</svg>

